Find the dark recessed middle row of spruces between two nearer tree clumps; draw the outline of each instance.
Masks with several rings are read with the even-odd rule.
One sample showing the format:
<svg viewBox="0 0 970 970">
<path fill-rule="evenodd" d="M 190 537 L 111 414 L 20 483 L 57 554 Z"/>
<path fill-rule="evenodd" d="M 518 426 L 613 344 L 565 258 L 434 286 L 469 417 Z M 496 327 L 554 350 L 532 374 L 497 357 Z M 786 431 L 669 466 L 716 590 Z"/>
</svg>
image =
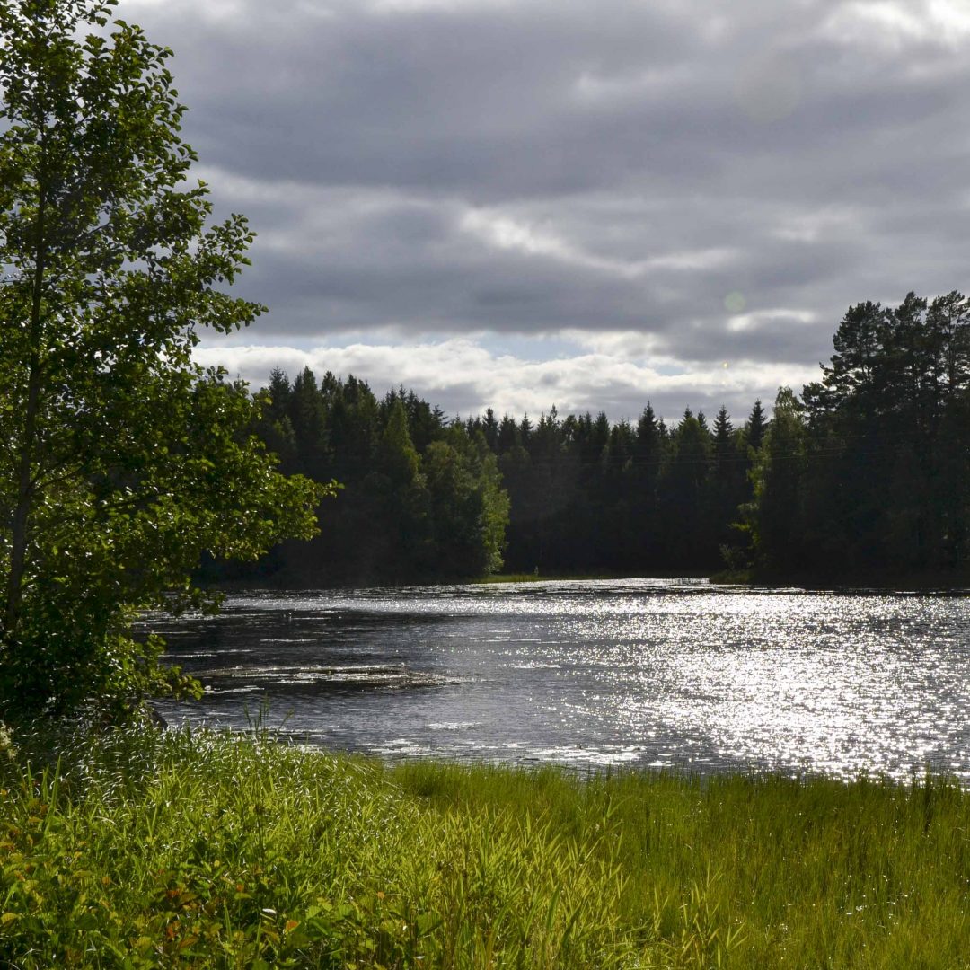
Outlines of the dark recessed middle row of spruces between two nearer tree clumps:
<svg viewBox="0 0 970 970">
<path fill-rule="evenodd" d="M 489 410 L 467 427 L 499 457 L 510 571 L 710 570 L 722 546 L 744 543 L 732 523 L 752 494 L 760 403 L 739 429 L 724 407 L 713 427 L 688 408 L 668 428 L 650 404 L 635 425 L 602 412 L 560 419 L 553 407 L 534 425 Z"/>
</svg>

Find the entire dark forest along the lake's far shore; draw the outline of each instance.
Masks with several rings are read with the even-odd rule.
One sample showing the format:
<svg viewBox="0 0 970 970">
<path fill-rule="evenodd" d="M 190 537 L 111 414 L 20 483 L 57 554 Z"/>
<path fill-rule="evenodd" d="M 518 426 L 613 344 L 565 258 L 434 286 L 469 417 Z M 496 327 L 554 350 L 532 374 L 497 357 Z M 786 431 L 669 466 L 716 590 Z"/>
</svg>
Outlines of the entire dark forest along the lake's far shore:
<svg viewBox="0 0 970 970">
<path fill-rule="evenodd" d="M 287 474 L 342 486 L 322 534 L 219 581 L 329 586 L 540 575 L 710 574 L 870 581 L 965 576 L 970 301 L 861 303 L 820 380 L 742 421 L 649 403 L 532 420 L 449 419 L 399 388 L 274 372 L 256 431 Z"/>
</svg>

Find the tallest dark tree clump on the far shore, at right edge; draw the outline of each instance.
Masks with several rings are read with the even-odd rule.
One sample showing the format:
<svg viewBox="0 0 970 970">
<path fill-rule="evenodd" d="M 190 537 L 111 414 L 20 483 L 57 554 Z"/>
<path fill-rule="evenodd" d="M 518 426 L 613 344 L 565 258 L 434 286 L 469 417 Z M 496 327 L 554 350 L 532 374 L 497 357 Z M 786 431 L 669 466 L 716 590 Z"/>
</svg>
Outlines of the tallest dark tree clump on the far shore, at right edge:
<svg viewBox="0 0 970 970">
<path fill-rule="evenodd" d="M 970 568 L 970 301 L 850 307 L 821 381 L 779 393 L 744 510 L 760 565 Z"/>
</svg>

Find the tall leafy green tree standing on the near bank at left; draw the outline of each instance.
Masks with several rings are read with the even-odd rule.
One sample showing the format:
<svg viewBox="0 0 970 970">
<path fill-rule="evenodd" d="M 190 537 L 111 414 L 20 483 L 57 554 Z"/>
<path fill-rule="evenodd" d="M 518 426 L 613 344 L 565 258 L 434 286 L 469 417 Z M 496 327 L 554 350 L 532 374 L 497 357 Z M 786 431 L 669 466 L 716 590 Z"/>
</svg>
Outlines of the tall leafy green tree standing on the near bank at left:
<svg viewBox="0 0 970 970">
<path fill-rule="evenodd" d="M 321 488 L 247 429 L 258 404 L 191 360 L 249 323 L 252 239 L 208 225 L 167 49 L 113 0 L 0 0 L 0 716 L 124 706 L 178 677 L 136 642 L 200 601 L 203 552 L 315 529 Z M 172 599 L 172 595 L 176 599 Z"/>
</svg>

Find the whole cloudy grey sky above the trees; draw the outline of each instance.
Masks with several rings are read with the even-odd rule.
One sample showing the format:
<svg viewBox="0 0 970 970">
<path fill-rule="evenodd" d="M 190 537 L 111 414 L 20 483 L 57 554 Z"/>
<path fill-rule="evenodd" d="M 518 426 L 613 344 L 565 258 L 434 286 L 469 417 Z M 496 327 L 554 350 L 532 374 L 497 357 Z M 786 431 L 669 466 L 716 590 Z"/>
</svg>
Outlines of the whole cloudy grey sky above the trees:
<svg viewBox="0 0 970 970">
<path fill-rule="evenodd" d="M 970 0 L 120 0 L 270 307 L 198 359 L 446 413 L 800 391 L 966 290 Z"/>
</svg>

